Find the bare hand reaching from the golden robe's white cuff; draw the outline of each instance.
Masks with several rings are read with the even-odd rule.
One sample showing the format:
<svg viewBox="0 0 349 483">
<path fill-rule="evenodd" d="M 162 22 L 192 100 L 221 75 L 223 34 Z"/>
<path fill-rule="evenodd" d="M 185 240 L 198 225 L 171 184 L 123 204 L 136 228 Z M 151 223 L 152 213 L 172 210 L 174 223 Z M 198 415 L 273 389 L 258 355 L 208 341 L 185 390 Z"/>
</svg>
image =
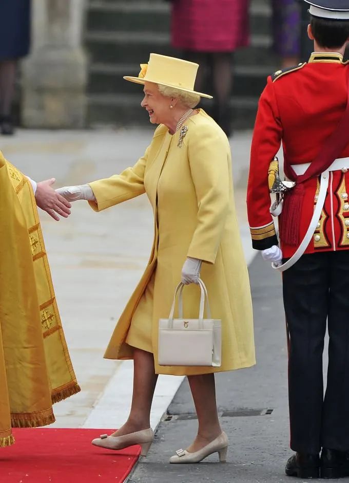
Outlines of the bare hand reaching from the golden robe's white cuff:
<svg viewBox="0 0 349 483">
<path fill-rule="evenodd" d="M 52 188 L 55 182 L 54 178 L 46 179 L 37 183 L 35 199 L 36 205 L 42 210 L 46 211 L 54 220 L 60 221 L 58 215 L 68 218 L 70 215 L 71 205 L 63 196 L 56 193 Z"/>
</svg>

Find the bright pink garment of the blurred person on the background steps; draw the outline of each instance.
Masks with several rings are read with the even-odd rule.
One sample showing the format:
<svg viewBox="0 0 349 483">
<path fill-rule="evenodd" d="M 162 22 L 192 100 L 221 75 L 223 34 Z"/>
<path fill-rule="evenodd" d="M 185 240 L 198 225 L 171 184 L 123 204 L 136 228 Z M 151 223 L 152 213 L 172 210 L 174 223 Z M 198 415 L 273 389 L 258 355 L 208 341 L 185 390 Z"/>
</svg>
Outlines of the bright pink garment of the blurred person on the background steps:
<svg viewBox="0 0 349 483">
<path fill-rule="evenodd" d="M 172 46 L 199 52 L 227 52 L 249 41 L 249 0 L 173 0 Z"/>
</svg>

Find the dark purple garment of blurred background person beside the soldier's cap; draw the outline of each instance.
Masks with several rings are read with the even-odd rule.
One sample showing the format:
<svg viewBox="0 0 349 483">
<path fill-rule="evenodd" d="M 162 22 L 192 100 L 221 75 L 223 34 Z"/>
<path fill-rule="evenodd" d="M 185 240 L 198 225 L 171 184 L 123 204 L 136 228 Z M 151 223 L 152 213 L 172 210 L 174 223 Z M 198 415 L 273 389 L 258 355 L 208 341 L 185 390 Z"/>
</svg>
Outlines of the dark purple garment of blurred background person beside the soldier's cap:
<svg viewBox="0 0 349 483">
<path fill-rule="evenodd" d="M 272 0 L 274 50 L 281 57 L 300 54 L 301 12 L 297 0 Z"/>
</svg>

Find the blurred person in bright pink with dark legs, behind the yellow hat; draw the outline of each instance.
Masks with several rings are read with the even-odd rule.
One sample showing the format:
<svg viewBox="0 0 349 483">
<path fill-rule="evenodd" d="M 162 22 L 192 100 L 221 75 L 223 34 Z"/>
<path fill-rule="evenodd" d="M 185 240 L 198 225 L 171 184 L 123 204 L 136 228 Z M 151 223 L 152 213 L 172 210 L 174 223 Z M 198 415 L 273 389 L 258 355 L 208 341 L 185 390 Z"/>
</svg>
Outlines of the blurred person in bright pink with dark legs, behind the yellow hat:
<svg viewBox="0 0 349 483">
<path fill-rule="evenodd" d="M 249 42 L 249 0 L 172 0 L 171 43 L 186 60 L 200 64 L 196 89 L 209 72 L 214 94 L 210 112 L 231 134 L 234 52 Z"/>
</svg>

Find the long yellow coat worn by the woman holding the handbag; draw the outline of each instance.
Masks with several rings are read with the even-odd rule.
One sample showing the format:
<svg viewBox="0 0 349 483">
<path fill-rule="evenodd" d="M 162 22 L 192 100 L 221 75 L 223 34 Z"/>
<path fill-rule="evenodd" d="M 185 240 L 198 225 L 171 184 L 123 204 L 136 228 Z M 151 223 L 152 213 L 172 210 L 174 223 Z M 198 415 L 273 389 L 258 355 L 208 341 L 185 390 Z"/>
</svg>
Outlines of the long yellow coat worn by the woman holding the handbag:
<svg viewBox="0 0 349 483">
<path fill-rule="evenodd" d="M 90 183 L 96 211 L 147 193 L 154 213 L 154 242 L 148 266 L 126 305 L 105 353 L 132 359 L 125 343 L 132 314 L 156 268 L 152 346 L 158 374 L 195 375 L 255 364 L 253 314 L 247 267 L 232 189 L 230 146 L 221 128 L 200 109 L 180 133 L 156 129 L 144 156 L 120 175 Z M 136 228 L 137 229 L 137 228 Z M 222 320 L 221 367 L 164 367 L 158 360 L 158 321 L 168 317 L 187 256 L 203 260 L 201 277 L 214 319 Z M 200 290 L 184 289 L 184 315 L 198 317 Z"/>
</svg>

